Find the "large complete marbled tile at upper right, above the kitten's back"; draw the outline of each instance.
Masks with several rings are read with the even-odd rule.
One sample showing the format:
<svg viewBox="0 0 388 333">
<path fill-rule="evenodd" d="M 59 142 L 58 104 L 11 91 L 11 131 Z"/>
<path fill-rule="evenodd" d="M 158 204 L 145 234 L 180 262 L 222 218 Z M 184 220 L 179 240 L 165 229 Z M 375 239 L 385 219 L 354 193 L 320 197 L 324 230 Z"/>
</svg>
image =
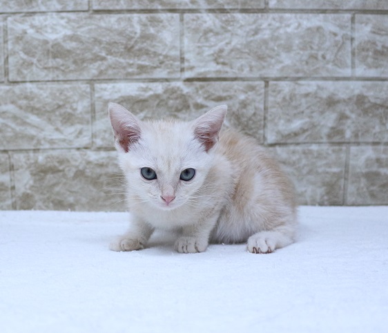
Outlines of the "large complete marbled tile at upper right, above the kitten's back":
<svg viewBox="0 0 388 333">
<path fill-rule="evenodd" d="M 351 16 L 184 15 L 186 77 L 351 75 Z"/>
</svg>

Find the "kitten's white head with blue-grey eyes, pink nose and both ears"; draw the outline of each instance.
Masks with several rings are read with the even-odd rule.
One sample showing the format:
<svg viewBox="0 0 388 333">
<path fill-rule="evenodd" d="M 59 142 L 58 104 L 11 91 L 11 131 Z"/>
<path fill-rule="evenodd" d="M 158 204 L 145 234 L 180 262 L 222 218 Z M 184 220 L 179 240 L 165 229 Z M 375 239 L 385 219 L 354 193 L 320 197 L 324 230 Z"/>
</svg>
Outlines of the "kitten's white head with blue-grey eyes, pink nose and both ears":
<svg viewBox="0 0 388 333">
<path fill-rule="evenodd" d="M 109 117 L 120 167 L 130 197 L 159 209 L 195 201 L 212 165 L 226 106 L 192 122 L 144 122 L 123 106 L 110 103 Z"/>
</svg>

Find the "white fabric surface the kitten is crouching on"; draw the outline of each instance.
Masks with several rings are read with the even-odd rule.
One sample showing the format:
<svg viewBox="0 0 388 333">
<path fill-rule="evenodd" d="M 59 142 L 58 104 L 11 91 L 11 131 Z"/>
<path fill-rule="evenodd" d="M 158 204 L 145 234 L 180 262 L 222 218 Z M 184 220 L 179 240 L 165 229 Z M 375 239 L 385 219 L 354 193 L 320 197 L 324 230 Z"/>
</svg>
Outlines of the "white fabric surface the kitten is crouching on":
<svg viewBox="0 0 388 333">
<path fill-rule="evenodd" d="M 273 254 L 109 251 L 127 220 L 0 211 L 0 331 L 388 332 L 388 207 L 300 207 Z"/>
</svg>

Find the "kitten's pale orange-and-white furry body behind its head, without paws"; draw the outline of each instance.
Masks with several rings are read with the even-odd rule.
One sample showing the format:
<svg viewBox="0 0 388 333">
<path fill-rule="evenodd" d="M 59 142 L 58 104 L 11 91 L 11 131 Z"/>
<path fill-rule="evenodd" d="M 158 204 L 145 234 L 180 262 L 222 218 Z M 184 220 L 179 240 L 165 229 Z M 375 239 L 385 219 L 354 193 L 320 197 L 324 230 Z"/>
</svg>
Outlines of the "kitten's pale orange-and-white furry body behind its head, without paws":
<svg viewBox="0 0 388 333">
<path fill-rule="evenodd" d="M 293 186 L 255 139 L 226 129 L 220 133 L 216 153 L 229 161 L 233 184 L 213 242 L 244 242 L 258 231 L 296 224 Z"/>
</svg>

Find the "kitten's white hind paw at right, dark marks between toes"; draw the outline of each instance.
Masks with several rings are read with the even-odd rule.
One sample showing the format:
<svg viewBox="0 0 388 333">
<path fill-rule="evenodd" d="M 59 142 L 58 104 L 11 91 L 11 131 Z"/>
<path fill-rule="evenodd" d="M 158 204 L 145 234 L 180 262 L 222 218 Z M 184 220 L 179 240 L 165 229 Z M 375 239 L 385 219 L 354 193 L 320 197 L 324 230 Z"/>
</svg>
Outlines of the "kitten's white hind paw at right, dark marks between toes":
<svg viewBox="0 0 388 333">
<path fill-rule="evenodd" d="M 270 254 L 294 242 L 295 227 L 282 226 L 271 231 L 260 231 L 248 238 L 247 248 L 253 254 Z"/>
</svg>

